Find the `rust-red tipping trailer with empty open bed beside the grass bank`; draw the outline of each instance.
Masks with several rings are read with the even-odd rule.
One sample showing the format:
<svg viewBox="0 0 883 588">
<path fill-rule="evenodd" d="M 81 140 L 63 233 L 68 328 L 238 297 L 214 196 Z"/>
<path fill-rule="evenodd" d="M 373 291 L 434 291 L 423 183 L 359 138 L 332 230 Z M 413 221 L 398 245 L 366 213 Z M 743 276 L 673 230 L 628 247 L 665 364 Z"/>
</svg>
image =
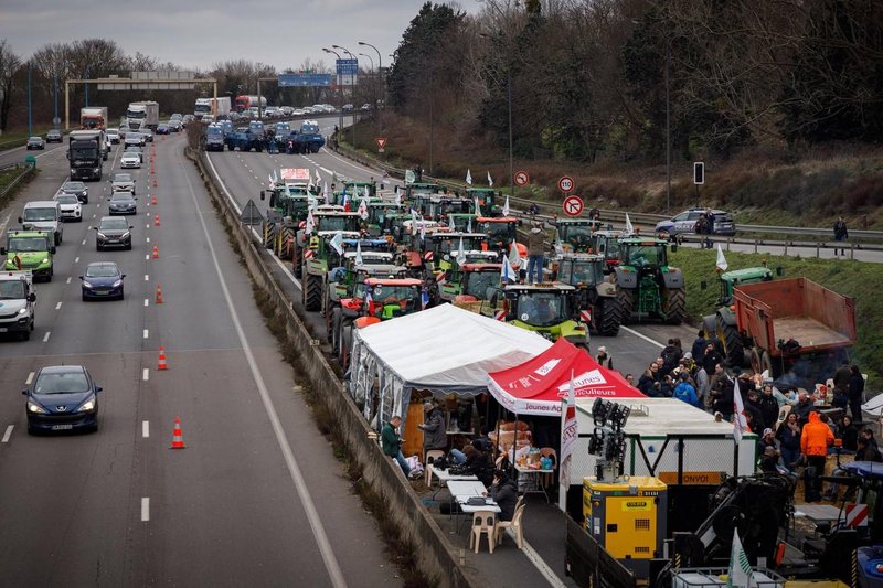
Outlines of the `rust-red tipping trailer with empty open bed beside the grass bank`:
<svg viewBox="0 0 883 588">
<path fill-rule="evenodd" d="M 737 286 L 733 304 L 746 363 L 778 386 L 813 389 L 855 344 L 855 300 L 807 278 Z"/>
</svg>

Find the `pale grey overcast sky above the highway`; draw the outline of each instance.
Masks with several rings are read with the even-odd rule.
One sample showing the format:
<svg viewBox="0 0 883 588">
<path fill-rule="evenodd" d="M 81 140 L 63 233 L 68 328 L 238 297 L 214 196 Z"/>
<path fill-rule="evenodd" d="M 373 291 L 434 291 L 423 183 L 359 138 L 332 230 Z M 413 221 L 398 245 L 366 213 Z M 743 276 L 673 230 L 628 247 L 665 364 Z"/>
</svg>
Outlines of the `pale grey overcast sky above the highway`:
<svg viewBox="0 0 883 588">
<path fill-rule="evenodd" d="M 28 58 L 46 43 L 111 39 L 126 54 L 151 55 L 184 68 L 245 58 L 298 70 L 305 60 L 334 56 L 322 47 L 342 45 L 384 65 L 425 0 L 0 0 L 0 39 Z M 436 3 L 444 3 L 437 0 Z M 476 13 L 477 0 L 460 0 Z M 342 56 L 345 55 L 340 52 Z M 365 68 L 370 62 L 359 56 Z M 376 65 L 376 63 L 375 63 Z"/>
</svg>

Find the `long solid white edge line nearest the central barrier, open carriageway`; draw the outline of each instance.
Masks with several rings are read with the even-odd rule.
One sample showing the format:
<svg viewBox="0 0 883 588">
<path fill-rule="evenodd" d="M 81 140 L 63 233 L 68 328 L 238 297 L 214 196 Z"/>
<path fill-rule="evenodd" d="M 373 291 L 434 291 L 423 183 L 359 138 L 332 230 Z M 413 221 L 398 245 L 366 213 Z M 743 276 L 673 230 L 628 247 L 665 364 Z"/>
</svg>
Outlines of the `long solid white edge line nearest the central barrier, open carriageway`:
<svg viewBox="0 0 883 588">
<path fill-rule="evenodd" d="M 184 171 L 184 181 L 187 182 L 188 191 L 190 192 L 190 199 L 193 202 L 193 207 L 199 211 L 200 205 L 196 201 L 196 193 L 193 191 L 193 184 L 190 182 L 190 175 L 187 173 L 187 170 L 183 169 L 184 164 L 180 159 L 178 160 L 178 165 L 182 169 L 182 171 Z M 267 411 L 267 417 L 273 426 L 273 432 L 276 435 L 276 442 L 279 445 L 279 449 L 281 449 L 283 457 L 285 458 L 285 464 L 288 468 L 288 473 L 291 475 L 291 481 L 294 482 L 295 490 L 300 499 L 301 507 L 307 515 L 307 521 L 310 524 L 312 536 L 316 538 L 316 544 L 319 547 L 319 553 L 322 556 L 325 567 L 328 570 L 328 576 L 332 586 L 336 588 L 344 588 L 347 586 L 347 581 L 343 579 L 343 573 L 340 570 L 340 565 L 338 564 L 338 559 L 334 556 L 333 549 L 331 548 L 331 543 L 328 541 L 328 534 L 322 525 L 322 520 L 319 517 L 319 512 L 316 510 L 316 503 L 313 502 L 310 491 L 307 488 L 307 482 L 304 480 L 304 473 L 300 471 L 300 467 L 297 464 L 295 452 L 291 451 L 291 446 L 289 445 L 288 438 L 285 435 L 285 429 L 283 429 L 283 424 L 279 420 L 279 415 L 276 411 L 273 399 L 269 397 L 269 392 L 267 391 L 264 377 L 260 375 L 260 368 L 258 367 L 257 361 L 252 352 L 252 346 L 248 344 L 248 340 L 245 338 L 245 331 L 242 328 L 240 316 L 236 312 L 236 308 L 233 303 L 233 297 L 230 293 L 227 282 L 224 280 L 224 274 L 221 270 L 221 261 L 217 259 L 217 253 L 214 249 L 214 243 L 212 242 L 212 237 L 209 235 L 209 227 L 205 226 L 205 217 L 203 215 L 199 215 L 199 218 L 200 224 L 202 225 L 202 233 L 205 237 L 205 243 L 209 244 L 209 253 L 212 255 L 212 264 L 214 265 L 214 271 L 217 276 L 217 281 L 221 284 L 221 290 L 224 292 L 224 299 L 227 303 L 227 310 L 230 311 L 230 318 L 233 321 L 236 336 L 240 340 L 243 353 L 245 354 L 245 359 L 248 363 L 248 370 L 252 372 L 252 378 L 257 387 L 260 402 L 264 404 L 264 409 Z"/>
</svg>

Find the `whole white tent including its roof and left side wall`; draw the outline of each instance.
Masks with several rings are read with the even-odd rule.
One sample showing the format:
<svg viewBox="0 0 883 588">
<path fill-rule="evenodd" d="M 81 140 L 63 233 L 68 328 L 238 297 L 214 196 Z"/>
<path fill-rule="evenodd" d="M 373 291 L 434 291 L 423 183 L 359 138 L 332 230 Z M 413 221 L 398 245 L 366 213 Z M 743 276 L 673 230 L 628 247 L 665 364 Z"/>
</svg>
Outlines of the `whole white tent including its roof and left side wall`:
<svg viewBox="0 0 883 588">
<path fill-rule="evenodd" d="M 370 421 L 405 416 L 411 392 L 475 395 L 488 373 L 520 365 L 552 344 L 541 335 L 453 304 L 359 329 L 349 391 Z"/>
</svg>

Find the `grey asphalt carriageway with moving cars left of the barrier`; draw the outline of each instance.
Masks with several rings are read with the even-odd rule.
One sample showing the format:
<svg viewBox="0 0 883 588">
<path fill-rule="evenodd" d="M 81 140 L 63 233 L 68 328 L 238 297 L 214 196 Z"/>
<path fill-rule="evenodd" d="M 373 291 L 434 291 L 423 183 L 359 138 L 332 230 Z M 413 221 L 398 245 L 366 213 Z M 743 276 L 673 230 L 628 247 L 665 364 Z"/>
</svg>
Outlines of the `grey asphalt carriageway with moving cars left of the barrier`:
<svg viewBox="0 0 883 588">
<path fill-rule="evenodd" d="M 32 339 L 0 341 L 3 584 L 398 585 L 264 325 L 183 140 L 158 138 L 148 148 L 156 174 L 136 172 L 131 252 L 95 250 L 89 227 L 107 211 L 98 197 L 107 184 L 89 184 L 84 222 L 65 225 L 55 277 L 36 286 Z M 24 202 L 50 197 L 66 179 L 61 153 L 41 153 L 42 173 L 3 212 L 10 226 Z M 114 156 L 105 171 L 118 148 Z M 126 272 L 124 300 L 81 301 L 78 276 L 98 259 Z M 160 345 L 168 371 L 157 370 Z M 25 432 L 19 392 L 60 363 L 86 365 L 104 387 L 98 432 Z M 171 450 L 179 416 L 187 448 Z"/>
</svg>

